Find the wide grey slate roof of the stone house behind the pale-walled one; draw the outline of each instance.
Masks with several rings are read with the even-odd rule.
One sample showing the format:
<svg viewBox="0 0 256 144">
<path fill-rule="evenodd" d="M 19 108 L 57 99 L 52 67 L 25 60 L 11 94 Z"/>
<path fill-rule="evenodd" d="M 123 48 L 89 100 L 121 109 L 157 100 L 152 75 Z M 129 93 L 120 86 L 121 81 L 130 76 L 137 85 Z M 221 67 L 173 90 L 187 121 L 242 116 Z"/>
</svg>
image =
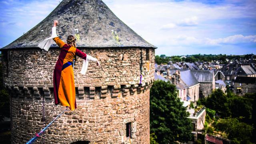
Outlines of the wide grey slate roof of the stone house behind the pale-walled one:
<svg viewBox="0 0 256 144">
<path fill-rule="evenodd" d="M 212 70 L 191 70 L 198 82 L 212 82 L 214 72 Z"/>
</svg>

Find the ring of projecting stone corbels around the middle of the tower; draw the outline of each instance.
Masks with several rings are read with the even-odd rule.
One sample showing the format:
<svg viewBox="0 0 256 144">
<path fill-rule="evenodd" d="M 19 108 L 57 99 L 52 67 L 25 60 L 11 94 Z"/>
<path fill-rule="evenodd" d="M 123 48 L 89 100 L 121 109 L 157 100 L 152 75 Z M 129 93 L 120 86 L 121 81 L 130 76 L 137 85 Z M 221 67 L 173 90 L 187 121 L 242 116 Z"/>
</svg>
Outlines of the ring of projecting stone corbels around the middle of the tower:
<svg viewBox="0 0 256 144">
<path fill-rule="evenodd" d="M 101 98 L 116 98 L 127 95 L 144 93 L 151 87 L 153 81 L 146 82 L 146 84 L 135 85 L 108 85 L 99 87 L 76 87 L 76 98 L 78 99 L 101 99 Z M 42 96 L 46 99 L 54 99 L 53 88 L 38 88 L 38 87 L 23 87 L 23 86 L 9 86 L 8 90 L 13 98 L 28 98 L 41 100 Z"/>
</svg>

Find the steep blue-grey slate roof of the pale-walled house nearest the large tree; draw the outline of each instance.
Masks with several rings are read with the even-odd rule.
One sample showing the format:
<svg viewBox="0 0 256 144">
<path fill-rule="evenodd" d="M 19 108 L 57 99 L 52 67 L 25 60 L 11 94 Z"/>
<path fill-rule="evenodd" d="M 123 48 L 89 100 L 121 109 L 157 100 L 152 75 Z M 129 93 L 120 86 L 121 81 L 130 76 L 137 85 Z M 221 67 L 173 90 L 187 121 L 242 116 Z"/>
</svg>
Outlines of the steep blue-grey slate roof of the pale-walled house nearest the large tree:
<svg viewBox="0 0 256 144">
<path fill-rule="evenodd" d="M 192 74 L 191 70 L 180 71 L 180 78 L 188 87 L 198 84 L 198 81 L 194 74 Z"/>
</svg>

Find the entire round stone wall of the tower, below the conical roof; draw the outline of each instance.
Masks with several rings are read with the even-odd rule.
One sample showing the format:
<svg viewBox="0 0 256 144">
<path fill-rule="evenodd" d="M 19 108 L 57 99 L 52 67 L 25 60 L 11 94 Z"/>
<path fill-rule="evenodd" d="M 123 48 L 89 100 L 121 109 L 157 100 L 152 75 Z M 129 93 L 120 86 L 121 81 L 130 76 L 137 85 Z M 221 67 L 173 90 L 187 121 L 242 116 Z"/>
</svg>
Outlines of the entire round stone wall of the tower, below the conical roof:
<svg viewBox="0 0 256 144">
<path fill-rule="evenodd" d="M 74 70 L 78 109 L 65 112 L 36 143 L 149 144 L 154 49 L 142 49 L 142 84 L 139 84 L 140 48 L 82 51 L 98 58 L 102 70 L 90 62 L 84 76 L 80 74 L 82 59 L 78 58 Z M 54 105 L 52 89 L 59 52 L 30 49 L 5 53 L 3 73 L 11 95 L 12 143 L 26 142 L 61 112 L 62 107 Z M 128 122 L 132 122 L 131 138 L 126 138 Z"/>
</svg>

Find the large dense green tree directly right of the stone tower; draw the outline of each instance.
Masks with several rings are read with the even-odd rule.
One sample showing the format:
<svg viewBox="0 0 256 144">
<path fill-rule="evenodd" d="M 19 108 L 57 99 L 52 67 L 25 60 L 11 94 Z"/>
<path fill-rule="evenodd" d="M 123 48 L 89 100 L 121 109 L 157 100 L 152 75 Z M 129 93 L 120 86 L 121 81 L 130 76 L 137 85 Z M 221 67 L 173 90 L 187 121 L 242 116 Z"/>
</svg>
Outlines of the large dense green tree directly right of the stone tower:
<svg viewBox="0 0 256 144">
<path fill-rule="evenodd" d="M 192 124 L 170 82 L 156 80 L 150 89 L 150 132 L 159 144 L 187 142 L 192 138 Z"/>
</svg>

